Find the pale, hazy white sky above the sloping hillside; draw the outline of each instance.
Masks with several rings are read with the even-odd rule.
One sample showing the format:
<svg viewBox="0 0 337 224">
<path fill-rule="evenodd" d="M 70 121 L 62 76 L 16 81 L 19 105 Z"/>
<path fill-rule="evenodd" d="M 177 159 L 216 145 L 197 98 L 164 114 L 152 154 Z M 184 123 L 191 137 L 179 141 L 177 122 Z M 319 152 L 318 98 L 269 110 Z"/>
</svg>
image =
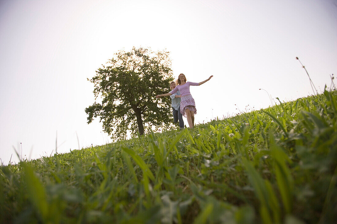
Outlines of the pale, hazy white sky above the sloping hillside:
<svg viewBox="0 0 337 224">
<path fill-rule="evenodd" d="M 132 46 L 170 51 L 175 78 L 214 75 L 190 88 L 195 123 L 208 122 L 270 106 L 266 91 L 281 101 L 313 94 L 296 57 L 319 92 L 330 87 L 337 1 L 0 0 L 2 162 L 19 161 L 20 143 L 23 158 L 53 155 L 56 136 L 60 153 L 111 142 L 101 123 L 87 124 L 87 78 Z"/>
</svg>

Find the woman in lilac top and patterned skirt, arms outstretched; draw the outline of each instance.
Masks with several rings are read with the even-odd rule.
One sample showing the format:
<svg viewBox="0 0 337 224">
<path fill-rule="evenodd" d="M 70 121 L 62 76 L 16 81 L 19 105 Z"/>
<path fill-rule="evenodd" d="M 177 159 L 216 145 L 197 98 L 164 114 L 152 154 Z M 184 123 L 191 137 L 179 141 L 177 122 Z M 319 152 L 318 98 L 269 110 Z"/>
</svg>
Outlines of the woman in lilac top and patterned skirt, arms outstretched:
<svg viewBox="0 0 337 224">
<path fill-rule="evenodd" d="M 156 98 L 159 97 L 167 97 L 176 93 L 178 90 L 181 94 L 181 102 L 180 102 L 180 112 L 181 114 L 187 118 L 187 122 L 190 128 L 194 127 L 194 114 L 196 114 L 195 102 L 189 91 L 189 87 L 191 85 L 201 85 L 210 80 L 213 77 L 211 75 L 208 79 L 202 82 L 186 82 L 186 77 L 183 73 L 178 76 L 178 84 L 171 92 L 167 94 L 157 95 Z"/>
</svg>

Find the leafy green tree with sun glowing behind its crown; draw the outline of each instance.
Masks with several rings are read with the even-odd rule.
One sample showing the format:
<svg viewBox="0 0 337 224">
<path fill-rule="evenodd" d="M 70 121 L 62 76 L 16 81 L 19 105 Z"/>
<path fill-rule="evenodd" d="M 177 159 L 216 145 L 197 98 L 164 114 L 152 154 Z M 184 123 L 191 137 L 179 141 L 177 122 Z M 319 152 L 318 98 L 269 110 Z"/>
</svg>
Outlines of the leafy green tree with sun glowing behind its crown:
<svg viewBox="0 0 337 224">
<path fill-rule="evenodd" d="M 95 102 L 85 109 L 88 124 L 95 117 L 103 123 L 104 132 L 115 139 L 144 134 L 144 127 L 168 128 L 172 125 L 171 99 L 156 99 L 168 92 L 173 80 L 169 52 L 153 52 L 147 48 L 132 48 L 115 53 L 106 66 L 96 71 L 88 81 L 94 84 Z"/>
</svg>

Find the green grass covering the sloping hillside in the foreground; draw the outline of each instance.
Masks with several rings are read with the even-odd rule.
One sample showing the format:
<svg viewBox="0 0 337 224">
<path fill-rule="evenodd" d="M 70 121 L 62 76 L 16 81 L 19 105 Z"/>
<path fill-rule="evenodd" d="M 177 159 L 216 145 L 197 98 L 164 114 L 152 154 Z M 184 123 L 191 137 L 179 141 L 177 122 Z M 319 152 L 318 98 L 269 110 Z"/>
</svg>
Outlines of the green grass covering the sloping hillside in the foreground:
<svg viewBox="0 0 337 224">
<path fill-rule="evenodd" d="M 1 166 L 1 223 L 331 223 L 333 91 Z"/>
</svg>

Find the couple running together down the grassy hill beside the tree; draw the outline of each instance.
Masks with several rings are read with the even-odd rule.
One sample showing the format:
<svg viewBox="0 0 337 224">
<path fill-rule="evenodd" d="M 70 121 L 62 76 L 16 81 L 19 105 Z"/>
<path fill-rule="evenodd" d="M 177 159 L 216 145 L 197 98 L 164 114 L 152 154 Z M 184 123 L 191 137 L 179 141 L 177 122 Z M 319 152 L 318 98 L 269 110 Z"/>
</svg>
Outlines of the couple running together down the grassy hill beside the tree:
<svg viewBox="0 0 337 224">
<path fill-rule="evenodd" d="M 213 77 L 211 75 L 208 79 L 202 82 L 186 82 L 186 77 L 183 73 L 178 76 L 178 82 L 176 85 L 175 82 L 170 83 L 170 88 L 173 89 L 171 92 L 167 94 L 157 95 L 156 98 L 159 97 L 167 97 L 171 96 L 172 98 L 172 113 L 174 122 L 177 122 L 177 115 L 179 118 L 179 126 L 180 129 L 184 127 L 184 121 L 182 115 L 187 118 L 187 122 L 190 128 L 194 127 L 194 114 L 196 114 L 195 102 L 189 91 L 189 87 L 191 85 L 201 85 L 210 80 Z M 179 91 L 179 93 L 178 93 Z M 180 94 L 180 95 L 178 95 Z M 175 100 L 176 98 L 181 98 L 180 106 Z M 179 102 L 179 101 L 178 101 Z"/>
</svg>

